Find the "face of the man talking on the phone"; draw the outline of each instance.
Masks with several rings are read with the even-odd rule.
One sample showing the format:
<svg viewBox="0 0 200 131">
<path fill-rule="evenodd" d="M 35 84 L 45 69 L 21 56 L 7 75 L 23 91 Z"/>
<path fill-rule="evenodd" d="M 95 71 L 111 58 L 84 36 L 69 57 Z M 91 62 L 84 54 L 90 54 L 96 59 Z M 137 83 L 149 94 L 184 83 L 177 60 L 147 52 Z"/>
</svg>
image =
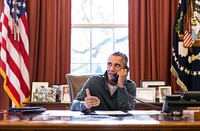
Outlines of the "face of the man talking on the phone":
<svg viewBox="0 0 200 131">
<path fill-rule="evenodd" d="M 125 68 L 125 64 L 122 57 L 111 55 L 107 61 L 108 81 L 111 81 L 112 76 L 123 68 Z"/>
</svg>

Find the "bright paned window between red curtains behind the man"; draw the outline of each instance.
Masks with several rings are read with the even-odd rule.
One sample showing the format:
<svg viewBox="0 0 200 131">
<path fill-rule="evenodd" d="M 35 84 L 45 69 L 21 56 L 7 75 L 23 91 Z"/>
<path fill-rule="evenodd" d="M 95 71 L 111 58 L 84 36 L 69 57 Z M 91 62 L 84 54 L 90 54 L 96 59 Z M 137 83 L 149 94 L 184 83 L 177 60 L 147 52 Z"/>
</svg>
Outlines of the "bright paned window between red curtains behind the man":
<svg viewBox="0 0 200 131">
<path fill-rule="evenodd" d="M 71 73 L 103 73 L 114 51 L 128 55 L 128 0 L 72 0 Z"/>
</svg>

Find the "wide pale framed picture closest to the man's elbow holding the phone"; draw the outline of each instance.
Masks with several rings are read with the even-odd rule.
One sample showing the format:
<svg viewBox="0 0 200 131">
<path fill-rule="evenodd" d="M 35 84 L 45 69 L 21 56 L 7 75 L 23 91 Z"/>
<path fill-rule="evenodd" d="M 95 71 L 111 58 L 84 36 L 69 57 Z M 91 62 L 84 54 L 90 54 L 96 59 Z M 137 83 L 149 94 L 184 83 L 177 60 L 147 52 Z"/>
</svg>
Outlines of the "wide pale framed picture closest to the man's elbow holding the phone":
<svg viewBox="0 0 200 131">
<path fill-rule="evenodd" d="M 155 88 L 137 87 L 136 98 L 144 102 L 155 102 Z"/>
</svg>

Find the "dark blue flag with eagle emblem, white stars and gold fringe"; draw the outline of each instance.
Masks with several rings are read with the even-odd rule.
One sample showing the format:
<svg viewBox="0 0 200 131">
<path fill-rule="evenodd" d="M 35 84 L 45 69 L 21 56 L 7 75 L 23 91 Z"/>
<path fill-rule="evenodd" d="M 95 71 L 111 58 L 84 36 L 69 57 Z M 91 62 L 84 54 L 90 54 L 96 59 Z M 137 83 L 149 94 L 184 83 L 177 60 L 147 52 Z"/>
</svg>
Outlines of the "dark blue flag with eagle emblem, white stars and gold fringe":
<svg viewBox="0 0 200 131">
<path fill-rule="evenodd" d="M 179 1 L 170 70 L 184 91 L 200 91 L 200 0 Z"/>
</svg>

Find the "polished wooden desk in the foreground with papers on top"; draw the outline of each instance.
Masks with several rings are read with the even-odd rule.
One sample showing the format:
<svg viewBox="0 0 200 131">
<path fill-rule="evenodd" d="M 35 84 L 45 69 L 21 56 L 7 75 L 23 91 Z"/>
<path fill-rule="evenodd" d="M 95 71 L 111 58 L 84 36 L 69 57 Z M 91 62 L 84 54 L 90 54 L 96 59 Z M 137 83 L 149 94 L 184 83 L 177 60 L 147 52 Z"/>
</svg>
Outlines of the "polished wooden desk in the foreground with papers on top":
<svg viewBox="0 0 200 131">
<path fill-rule="evenodd" d="M 184 116 L 138 110 L 128 114 L 115 113 L 84 115 L 69 110 L 47 110 L 41 114 L 22 115 L 4 112 L 0 114 L 0 130 L 200 130 L 199 120 Z"/>
</svg>

